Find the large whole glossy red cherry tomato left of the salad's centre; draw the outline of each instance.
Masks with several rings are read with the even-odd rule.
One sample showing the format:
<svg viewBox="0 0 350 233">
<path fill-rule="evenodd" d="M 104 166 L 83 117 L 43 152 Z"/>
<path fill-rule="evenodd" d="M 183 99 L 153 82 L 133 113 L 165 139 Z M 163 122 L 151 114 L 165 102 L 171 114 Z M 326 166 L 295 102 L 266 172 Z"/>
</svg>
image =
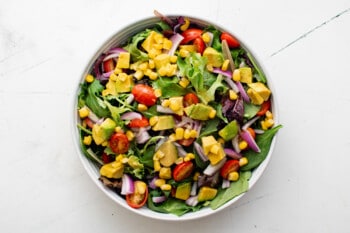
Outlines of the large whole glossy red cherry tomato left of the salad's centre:
<svg viewBox="0 0 350 233">
<path fill-rule="evenodd" d="M 157 97 L 154 94 L 153 88 L 146 84 L 136 84 L 132 88 L 131 93 L 140 104 L 152 106 L 157 102 Z"/>
</svg>

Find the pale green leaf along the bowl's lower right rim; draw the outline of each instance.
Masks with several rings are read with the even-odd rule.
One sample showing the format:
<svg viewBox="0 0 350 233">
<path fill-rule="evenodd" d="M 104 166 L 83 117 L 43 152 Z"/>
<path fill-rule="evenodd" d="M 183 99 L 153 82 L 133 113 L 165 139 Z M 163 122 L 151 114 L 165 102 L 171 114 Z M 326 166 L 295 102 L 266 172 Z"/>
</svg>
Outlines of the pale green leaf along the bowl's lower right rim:
<svg viewBox="0 0 350 233">
<path fill-rule="evenodd" d="M 215 199 L 210 202 L 210 208 L 217 209 L 230 201 L 232 198 L 248 191 L 249 179 L 251 177 L 250 171 L 240 172 L 239 180 L 231 182 L 227 189 L 220 188 Z"/>
</svg>

